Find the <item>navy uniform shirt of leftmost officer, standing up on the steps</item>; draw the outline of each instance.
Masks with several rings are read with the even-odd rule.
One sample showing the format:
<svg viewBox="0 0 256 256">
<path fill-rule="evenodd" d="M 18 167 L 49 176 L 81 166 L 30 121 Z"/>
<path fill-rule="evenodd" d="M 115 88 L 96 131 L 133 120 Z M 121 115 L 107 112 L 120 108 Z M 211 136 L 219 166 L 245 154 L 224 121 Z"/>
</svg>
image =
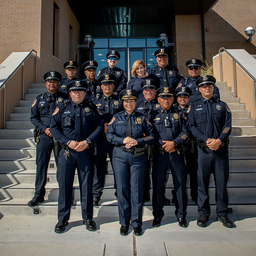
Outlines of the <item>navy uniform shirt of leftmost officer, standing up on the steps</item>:
<svg viewBox="0 0 256 256">
<path fill-rule="evenodd" d="M 54 97 L 54 108 L 52 108 L 52 113 L 52 99 L 49 99 L 51 96 Z M 50 127 L 50 121 L 54 109 L 58 107 L 65 99 L 68 99 L 67 94 L 59 91 L 53 94 L 50 92 L 45 92 L 44 94 L 38 95 L 32 104 L 30 117 L 31 123 L 34 124 L 41 132 L 44 132 L 45 128 Z"/>
</svg>

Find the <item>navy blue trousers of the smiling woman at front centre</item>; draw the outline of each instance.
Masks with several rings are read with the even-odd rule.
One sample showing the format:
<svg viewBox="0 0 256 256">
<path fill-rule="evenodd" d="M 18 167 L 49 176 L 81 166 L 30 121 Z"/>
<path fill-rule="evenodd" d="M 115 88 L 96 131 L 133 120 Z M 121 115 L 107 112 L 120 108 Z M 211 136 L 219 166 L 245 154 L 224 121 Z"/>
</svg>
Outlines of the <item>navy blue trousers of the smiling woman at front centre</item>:
<svg viewBox="0 0 256 256">
<path fill-rule="evenodd" d="M 119 224 L 142 226 L 143 186 L 147 167 L 144 155 L 135 157 L 120 148 L 113 150 L 113 167 L 118 194 Z"/>
</svg>

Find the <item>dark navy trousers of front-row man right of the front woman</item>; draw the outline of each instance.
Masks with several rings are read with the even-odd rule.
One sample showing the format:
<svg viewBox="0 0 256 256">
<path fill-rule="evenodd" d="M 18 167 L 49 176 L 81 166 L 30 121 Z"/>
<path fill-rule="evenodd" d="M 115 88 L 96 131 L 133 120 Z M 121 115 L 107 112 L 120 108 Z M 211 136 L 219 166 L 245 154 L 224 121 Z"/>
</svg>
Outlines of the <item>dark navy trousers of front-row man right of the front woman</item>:
<svg viewBox="0 0 256 256">
<path fill-rule="evenodd" d="M 186 217 L 187 209 L 187 171 L 185 167 L 184 155 L 173 153 L 164 153 L 160 155 L 154 152 L 153 164 L 152 164 L 152 206 L 154 218 L 162 219 L 164 217 L 164 182 L 166 180 L 166 174 L 168 166 L 172 172 L 172 180 L 174 191 L 176 194 L 175 199 L 175 215 L 177 218 Z"/>
</svg>

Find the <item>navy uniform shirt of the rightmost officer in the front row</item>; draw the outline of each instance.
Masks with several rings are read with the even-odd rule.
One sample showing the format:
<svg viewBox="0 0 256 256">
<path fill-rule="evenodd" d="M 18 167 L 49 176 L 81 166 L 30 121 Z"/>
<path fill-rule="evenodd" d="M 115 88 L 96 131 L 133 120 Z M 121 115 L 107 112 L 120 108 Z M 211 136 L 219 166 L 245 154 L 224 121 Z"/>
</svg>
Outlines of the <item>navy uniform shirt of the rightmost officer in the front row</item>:
<svg viewBox="0 0 256 256">
<path fill-rule="evenodd" d="M 211 98 L 211 110 L 213 114 L 213 138 L 220 139 L 225 142 L 231 133 L 231 111 L 228 105 L 223 102 L 217 102 Z M 206 115 L 206 99 L 201 97 L 191 103 L 188 109 L 188 121 L 192 134 L 196 139 L 206 142 L 209 139 L 207 133 L 207 115 Z"/>
</svg>

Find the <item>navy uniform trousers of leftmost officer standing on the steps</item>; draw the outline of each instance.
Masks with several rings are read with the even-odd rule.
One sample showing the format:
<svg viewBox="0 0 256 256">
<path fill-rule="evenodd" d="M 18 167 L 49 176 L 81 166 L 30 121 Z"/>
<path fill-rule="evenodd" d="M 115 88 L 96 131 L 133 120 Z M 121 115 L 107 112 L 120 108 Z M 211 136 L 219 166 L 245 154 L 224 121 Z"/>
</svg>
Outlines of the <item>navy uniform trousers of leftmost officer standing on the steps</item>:
<svg viewBox="0 0 256 256">
<path fill-rule="evenodd" d="M 47 178 L 47 170 L 52 154 L 54 152 L 53 137 L 47 135 L 40 135 L 39 142 L 36 143 L 36 182 L 35 182 L 35 196 L 44 198 L 45 185 Z M 58 157 L 55 156 L 55 163 L 58 164 Z"/>
</svg>

